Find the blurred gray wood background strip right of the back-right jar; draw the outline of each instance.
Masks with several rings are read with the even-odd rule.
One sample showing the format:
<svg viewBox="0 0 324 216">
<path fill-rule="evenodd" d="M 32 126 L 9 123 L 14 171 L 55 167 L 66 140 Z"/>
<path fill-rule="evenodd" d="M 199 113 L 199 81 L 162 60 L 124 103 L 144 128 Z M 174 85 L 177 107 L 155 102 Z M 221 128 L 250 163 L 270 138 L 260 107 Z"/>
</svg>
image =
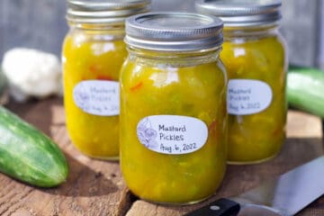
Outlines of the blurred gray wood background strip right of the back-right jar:
<svg viewBox="0 0 324 216">
<path fill-rule="evenodd" d="M 317 66 L 319 63 L 321 0 L 284 0 L 282 29 L 290 63 Z"/>
</svg>

